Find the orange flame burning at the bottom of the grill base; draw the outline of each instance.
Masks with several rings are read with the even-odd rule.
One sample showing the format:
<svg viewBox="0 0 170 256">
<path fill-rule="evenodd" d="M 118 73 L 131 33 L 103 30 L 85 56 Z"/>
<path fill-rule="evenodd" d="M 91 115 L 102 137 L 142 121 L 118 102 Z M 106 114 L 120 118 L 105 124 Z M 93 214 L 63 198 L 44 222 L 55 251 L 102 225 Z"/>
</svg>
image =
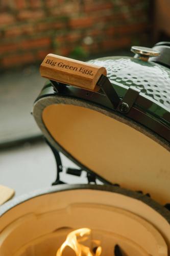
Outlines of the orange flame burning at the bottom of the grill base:
<svg viewBox="0 0 170 256">
<path fill-rule="evenodd" d="M 78 237 L 80 237 L 79 241 L 87 240 L 87 237 L 83 236 L 88 236 L 91 233 L 91 230 L 89 228 L 80 228 L 77 230 L 74 230 L 70 232 L 65 240 L 65 242 L 61 245 L 61 247 L 58 249 L 56 256 L 62 256 L 63 250 L 65 247 L 70 247 L 74 252 L 76 253 L 76 256 L 100 256 L 102 253 L 102 247 L 98 246 L 98 248 L 95 251 L 95 254 L 92 254 L 90 251 L 90 248 L 82 245 L 78 242 Z"/>
</svg>

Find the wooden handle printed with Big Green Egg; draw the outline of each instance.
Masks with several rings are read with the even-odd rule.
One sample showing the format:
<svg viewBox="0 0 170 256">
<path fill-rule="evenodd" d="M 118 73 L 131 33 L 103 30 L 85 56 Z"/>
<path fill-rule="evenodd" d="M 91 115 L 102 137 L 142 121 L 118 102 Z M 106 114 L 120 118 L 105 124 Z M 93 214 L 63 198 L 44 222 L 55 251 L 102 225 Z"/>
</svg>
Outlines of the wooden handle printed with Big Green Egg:
<svg viewBox="0 0 170 256">
<path fill-rule="evenodd" d="M 107 71 L 104 67 L 48 54 L 41 63 L 40 74 L 58 82 L 95 90 L 96 82 L 102 74 L 107 75 Z"/>
</svg>

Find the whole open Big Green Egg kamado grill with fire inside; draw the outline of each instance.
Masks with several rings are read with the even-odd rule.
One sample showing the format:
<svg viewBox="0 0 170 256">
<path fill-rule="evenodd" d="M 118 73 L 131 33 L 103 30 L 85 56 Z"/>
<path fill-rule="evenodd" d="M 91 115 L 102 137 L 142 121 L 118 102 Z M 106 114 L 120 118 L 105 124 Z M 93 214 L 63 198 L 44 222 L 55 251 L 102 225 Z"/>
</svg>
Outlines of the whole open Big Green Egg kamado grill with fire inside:
<svg viewBox="0 0 170 256">
<path fill-rule="evenodd" d="M 50 80 L 33 115 L 57 160 L 56 186 L 0 208 L 1 256 L 170 255 L 170 45 L 132 51 L 43 60 Z M 60 180 L 58 152 L 89 184 Z"/>
</svg>

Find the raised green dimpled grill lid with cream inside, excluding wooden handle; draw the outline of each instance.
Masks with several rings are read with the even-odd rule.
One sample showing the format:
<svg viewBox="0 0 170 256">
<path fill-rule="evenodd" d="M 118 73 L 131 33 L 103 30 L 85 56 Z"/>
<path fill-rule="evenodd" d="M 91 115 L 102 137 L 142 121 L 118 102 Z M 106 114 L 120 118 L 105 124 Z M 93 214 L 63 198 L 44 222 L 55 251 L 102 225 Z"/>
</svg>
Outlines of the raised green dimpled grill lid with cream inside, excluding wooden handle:
<svg viewBox="0 0 170 256">
<path fill-rule="evenodd" d="M 47 81 L 33 114 L 48 142 L 81 168 L 165 204 L 170 200 L 170 69 L 150 61 L 157 50 L 132 51 L 134 57 L 89 61 L 107 69 L 122 102 L 137 90 L 128 112 L 114 109 L 102 91 Z"/>
</svg>

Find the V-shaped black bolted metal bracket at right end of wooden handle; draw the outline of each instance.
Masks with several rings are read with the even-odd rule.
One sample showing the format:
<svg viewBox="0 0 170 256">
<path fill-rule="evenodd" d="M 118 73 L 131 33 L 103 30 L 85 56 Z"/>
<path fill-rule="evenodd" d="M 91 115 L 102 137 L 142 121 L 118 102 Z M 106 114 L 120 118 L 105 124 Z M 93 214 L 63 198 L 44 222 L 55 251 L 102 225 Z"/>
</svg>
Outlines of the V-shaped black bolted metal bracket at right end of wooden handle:
<svg viewBox="0 0 170 256">
<path fill-rule="evenodd" d="M 122 114 L 127 114 L 130 111 L 140 93 L 139 89 L 135 87 L 130 87 L 124 98 L 120 100 L 118 94 L 116 93 L 107 76 L 101 75 L 96 84 L 102 88 L 108 100 L 113 105 L 113 108 Z"/>
</svg>

